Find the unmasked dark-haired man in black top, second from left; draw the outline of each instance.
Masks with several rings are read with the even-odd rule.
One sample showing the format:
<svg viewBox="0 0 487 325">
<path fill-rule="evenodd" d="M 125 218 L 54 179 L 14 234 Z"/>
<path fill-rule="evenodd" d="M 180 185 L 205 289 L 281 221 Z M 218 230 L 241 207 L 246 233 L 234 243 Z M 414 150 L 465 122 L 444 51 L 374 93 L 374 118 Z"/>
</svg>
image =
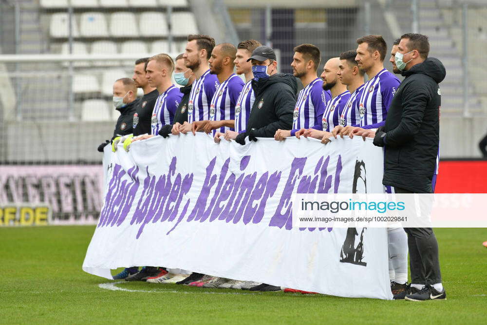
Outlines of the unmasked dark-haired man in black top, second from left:
<svg viewBox="0 0 487 325">
<path fill-rule="evenodd" d="M 132 79 L 137 88 L 142 88 L 144 96 L 140 98 L 133 114 L 133 136 L 150 134 L 150 119 L 154 110 L 155 101 L 159 92 L 154 87 L 150 87 L 146 78 L 146 67 L 149 57 L 139 58 L 135 61 Z"/>
</svg>

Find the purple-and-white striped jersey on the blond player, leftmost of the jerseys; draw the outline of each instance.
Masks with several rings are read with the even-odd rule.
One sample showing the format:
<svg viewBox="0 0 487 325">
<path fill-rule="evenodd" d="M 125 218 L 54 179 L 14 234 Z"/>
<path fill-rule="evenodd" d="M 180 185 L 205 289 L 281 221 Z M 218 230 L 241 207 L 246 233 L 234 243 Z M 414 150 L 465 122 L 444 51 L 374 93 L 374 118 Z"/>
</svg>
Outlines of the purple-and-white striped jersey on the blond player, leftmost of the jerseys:
<svg viewBox="0 0 487 325">
<path fill-rule="evenodd" d="M 157 135 L 163 125 L 172 124 L 181 98 L 183 94 L 174 85 L 157 97 L 150 119 L 151 134 Z"/>
</svg>

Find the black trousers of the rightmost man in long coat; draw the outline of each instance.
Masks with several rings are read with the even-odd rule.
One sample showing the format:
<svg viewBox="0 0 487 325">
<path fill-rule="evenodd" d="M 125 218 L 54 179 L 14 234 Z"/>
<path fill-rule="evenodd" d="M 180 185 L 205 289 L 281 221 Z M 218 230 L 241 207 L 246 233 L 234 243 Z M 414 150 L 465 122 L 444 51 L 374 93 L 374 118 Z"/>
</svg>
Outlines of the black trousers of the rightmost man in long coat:
<svg viewBox="0 0 487 325">
<path fill-rule="evenodd" d="M 394 188 L 396 193 L 412 191 Z M 411 283 L 433 285 L 441 283 L 438 242 L 432 228 L 404 228 L 408 234 Z"/>
</svg>

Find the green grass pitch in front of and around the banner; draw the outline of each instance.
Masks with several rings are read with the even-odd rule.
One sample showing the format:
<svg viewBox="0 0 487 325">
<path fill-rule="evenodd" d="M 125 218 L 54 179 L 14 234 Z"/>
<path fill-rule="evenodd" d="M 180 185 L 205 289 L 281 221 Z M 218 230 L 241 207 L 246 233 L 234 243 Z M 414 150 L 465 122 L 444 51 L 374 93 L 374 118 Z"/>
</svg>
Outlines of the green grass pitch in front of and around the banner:
<svg viewBox="0 0 487 325">
<path fill-rule="evenodd" d="M 414 303 L 122 283 L 81 265 L 94 227 L 0 229 L 0 323 L 486 324 L 487 229 L 436 229 L 447 301 Z"/>
</svg>

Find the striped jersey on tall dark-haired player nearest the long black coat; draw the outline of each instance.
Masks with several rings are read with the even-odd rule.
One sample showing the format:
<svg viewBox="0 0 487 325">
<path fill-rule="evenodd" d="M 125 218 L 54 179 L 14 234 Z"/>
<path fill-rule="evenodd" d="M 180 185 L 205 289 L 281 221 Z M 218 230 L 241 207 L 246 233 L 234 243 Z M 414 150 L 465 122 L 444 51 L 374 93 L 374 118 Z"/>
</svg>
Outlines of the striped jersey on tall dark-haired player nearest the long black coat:
<svg viewBox="0 0 487 325">
<path fill-rule="evenodd" d="M 385 124 L 387 111 L 400 83 L 386 69 L 365 83 L 358 106 L 361 128 L 375 129 Z"/>
</svg>

